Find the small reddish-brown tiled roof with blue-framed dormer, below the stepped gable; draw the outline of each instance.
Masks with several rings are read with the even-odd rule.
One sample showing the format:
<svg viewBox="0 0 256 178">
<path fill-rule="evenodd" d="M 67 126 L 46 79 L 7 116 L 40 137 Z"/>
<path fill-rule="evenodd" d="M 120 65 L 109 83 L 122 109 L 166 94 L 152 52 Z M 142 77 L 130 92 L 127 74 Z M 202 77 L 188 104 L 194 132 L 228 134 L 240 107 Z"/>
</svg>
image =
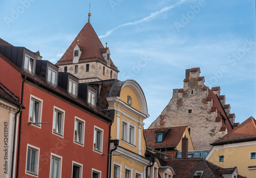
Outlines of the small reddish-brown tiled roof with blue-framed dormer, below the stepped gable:
<svg viewBox="0 0 256 178">
<path fill-rule="evenodd" d="M 163 128 L 164 130 L 168 130 L 168 133 L 161 143 L 156 143 L 156 131 L 160 131 L 159 128 L 157 129 L 145 129 L 144 130 L 144 136 L 146 139 L 146 144 L 148 147 L 151 148 L 163 148 L 163 147 L 176 147 L 182 136 L 185 132 L 187 126 L 176 126 L 173 128 Z"/>
</svg>

